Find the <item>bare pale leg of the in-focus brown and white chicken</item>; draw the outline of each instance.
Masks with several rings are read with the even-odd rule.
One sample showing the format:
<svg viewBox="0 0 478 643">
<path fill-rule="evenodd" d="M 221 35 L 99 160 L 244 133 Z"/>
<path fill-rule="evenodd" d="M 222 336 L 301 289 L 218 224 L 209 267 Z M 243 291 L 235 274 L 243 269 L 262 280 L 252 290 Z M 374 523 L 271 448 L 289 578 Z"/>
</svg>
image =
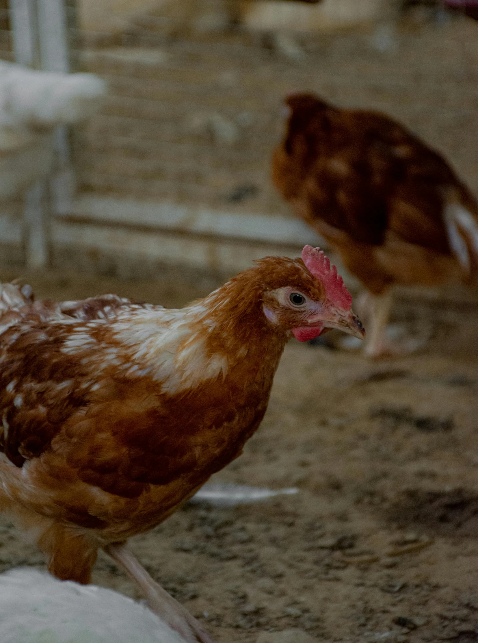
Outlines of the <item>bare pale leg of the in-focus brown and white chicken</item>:
<svg viewBox="0 0 478 643">
<path fill-rule="evenodd" d="M 150 610 L 170 628 L 179 632 L 188 643 L 214 643 L 199 620 L 152 579 L 124 543 L 112 543 L 104 547 L 104 550 L 139 586 Z"/>
</svg>

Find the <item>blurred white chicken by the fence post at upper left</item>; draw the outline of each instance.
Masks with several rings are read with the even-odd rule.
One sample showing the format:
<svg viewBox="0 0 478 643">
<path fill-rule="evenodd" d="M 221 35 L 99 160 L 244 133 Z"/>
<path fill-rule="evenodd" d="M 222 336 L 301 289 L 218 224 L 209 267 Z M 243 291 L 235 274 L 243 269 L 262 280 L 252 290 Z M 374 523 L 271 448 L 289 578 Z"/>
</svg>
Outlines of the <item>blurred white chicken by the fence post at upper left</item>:
<svg viewBox="0 0 478 643">
<path fill-rule="evenodd" d="M 93 74 L 35 71 L 0 61 L 0 200 L 19 195 L 53 163 L 53 129 L 98 109 L 106 93 Z"/>
</svg>

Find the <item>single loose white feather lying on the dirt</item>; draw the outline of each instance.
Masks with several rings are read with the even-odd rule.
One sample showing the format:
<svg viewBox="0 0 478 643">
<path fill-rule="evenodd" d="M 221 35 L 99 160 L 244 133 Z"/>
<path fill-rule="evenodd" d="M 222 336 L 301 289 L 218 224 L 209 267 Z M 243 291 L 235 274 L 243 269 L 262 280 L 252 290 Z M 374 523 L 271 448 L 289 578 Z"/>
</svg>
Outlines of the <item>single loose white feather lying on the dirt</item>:
<svg viewBox="0 0 478 643">
<path fill-rule="evenodd" d="M 199 489 L 190 502 L 208 502 L 216 507 L 233 507 L 260 502 L 274 496 L 298 493 L 296 487 L 287 489 L 267 489 L 266 487 L 249 487 L 245 484 L 229 484 L 227 482 L 210 482 Z"/>
</svg>

